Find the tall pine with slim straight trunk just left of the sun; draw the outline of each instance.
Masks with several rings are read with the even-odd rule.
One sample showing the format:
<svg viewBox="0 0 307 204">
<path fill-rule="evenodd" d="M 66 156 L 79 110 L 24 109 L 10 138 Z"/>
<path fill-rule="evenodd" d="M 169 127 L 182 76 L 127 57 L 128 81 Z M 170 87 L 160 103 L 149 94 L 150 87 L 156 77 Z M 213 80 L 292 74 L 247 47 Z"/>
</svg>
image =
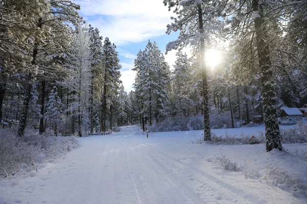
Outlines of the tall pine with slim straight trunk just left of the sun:
<svg viewBox="0 0 307 204">
<path fill-rule="evenodd" d="M 204 140 L 211 140 L 210 118 L 209 118 L 209 93 L 207 83 L 207 68 L 205 62 L 205 50 L 214 42 L 212 34 L 216 33 L 217 22 L 213 16 L 214 2 L 208 0 L 164 0 L 168 10 L 173 9 L 177 15 L 172 17 L 173 22 L 167 25 L 167 34 L 180 30 L 177 40 L 166 45 L 166 52 L 171 49 L 181 49 L 191 45 L 193 53 L 199 53 L 202 64 L 202 93 L 204 114 Z"/>
</svg>

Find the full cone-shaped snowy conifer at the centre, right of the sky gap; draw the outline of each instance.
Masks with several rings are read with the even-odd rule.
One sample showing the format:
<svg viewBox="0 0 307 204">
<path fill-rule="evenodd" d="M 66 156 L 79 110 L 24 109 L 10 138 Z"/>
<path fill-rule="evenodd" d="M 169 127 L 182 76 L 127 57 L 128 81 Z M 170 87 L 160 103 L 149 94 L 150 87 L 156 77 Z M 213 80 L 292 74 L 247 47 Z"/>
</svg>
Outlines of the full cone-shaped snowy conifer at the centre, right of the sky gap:
<svg viewBox="0 0 307 204">
<path fill-rule="evenodd" d="M 145 50 L 140 50 L 135 60 L 137 78 L 134 84 L 138 95 L 138 108 L 141 122 L 149 125 L 153 117 L 159 122 L 166 115 L 169 108 L 170 71 L 164 61 L 156 42 L 148 41 Z"/>
</svg>

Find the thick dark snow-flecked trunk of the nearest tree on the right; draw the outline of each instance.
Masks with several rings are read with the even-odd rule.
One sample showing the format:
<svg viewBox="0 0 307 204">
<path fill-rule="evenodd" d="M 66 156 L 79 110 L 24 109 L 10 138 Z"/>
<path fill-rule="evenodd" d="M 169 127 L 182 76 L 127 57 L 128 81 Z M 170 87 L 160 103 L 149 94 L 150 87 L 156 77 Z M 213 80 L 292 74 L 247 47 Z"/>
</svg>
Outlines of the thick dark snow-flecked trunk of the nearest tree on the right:
<svg viewBox="0 0 307 204">
<path fill-rule="evenodd" d="M 258 0 L 253 0 L 253 11 L 258 12 L 255 17 L 256 46 L 260 66 L 261 91 L 264 104 L 264 119 L 266 127 L 266 150 L 271 151 L 274 148 L 282 150 L 280 132 L 277 121 L 276 94 L 274 91 L 273 71 L 271 69 L 270 49 L 266 43 L 268 39 L 266 23 L 262 17 L 262 6 Z"/>
</svg>

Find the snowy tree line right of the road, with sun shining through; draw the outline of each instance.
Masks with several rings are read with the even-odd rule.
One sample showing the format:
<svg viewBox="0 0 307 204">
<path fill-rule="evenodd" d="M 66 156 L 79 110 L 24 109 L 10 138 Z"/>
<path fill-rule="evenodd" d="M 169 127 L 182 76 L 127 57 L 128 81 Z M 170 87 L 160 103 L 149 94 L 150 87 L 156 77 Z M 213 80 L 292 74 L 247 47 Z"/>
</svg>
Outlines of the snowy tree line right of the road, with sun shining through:
<svg viewBox="0 0 307 204">
<path fill-rule="evenodd" d="M 208 141 L 214 113 L 229 111 L 231 127 L 234 119 L 248 123 L 260 115 L 266 127 L 267 151 L 281 150 L 278 107 L 300 107 L 307 99 L 306 1 L 163 3 L 174 13 L 166 33 L 180 31 L 178 39 L 167 44 L 166 52 L 179 52 L 171 74 L 160 63 L 163 57 L 157 60 L 150 54 L 150 49 L 155 50 L 150 42 L 139 52 L 135 88 L 140 121 L 150 125 L 153 116 L 161 121 L 164 115 L 189 116 L 201 111 L 204 140 Z M 228 46 L 221 47 L 221 42 Z M 219 45 L 224 61 L 212 72 L 205 53 Z M 192 49 L 190 59 L 181 52 L 187 46 Z M 155 70 L 159 70 L 158 79 Z M 160 78 L 165 81 L 161 83 Z"/>
</svg>

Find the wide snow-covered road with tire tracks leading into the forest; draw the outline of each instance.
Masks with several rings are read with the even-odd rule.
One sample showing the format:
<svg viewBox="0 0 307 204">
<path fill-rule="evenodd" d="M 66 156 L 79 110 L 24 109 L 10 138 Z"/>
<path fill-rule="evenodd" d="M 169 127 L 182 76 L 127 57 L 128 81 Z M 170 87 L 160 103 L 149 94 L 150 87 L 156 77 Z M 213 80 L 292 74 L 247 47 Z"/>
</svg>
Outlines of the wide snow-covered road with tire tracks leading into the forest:
<svg viewBox="0 0 307 204">
<path fill-rule="evenodd" d="M 0 203 L 303 203 L 266 183 L 213 173 L 180 140 L 147 139 L 138 130 L 80 138 L 82 147 L 64 159 L 3 181 Z"/>
</svg>

